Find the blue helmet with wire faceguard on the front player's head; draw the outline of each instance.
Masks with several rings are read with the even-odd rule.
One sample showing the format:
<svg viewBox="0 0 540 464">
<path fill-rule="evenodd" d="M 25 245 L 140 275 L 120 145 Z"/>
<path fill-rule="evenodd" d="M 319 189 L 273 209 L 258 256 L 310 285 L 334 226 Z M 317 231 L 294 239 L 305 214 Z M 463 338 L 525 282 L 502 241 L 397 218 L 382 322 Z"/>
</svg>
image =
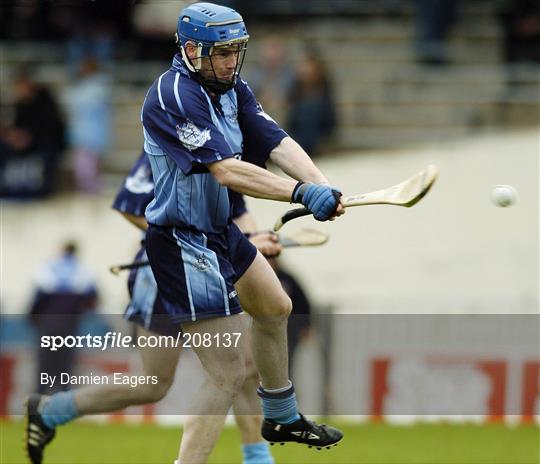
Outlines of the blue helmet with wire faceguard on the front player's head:
<svg viewBox="0 0 540 464">
<path fill-rule="evenodd" d="M 235 10 L 212 3 L 195 3 L 184 8 L 178 18 L 176 40 L 182 60 L 206 88 L 218 94 L 232 89 L 242 69 L 249 35 L 242 16 Z M 195 56 L 188 56 L 186 45 L 195 47 Z M 231 78 L 216 74 L 212 57 L 224 51 L 234 53 L 235 69 Z M 193 54 L 192 54 L 193 55 Z M 203 75 L 203 59 L 210 63 L 211 73 Z"/>
</svg>

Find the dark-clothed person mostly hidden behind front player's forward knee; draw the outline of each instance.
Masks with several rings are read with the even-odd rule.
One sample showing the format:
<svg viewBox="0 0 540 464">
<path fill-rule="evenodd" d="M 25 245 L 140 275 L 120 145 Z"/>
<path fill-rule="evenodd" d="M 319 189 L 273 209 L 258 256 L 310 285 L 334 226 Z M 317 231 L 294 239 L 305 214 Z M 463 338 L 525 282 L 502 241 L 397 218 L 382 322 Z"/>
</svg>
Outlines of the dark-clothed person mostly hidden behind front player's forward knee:
<svg viewBox="0 0 540 464">
<path fill-rule="evenodd" d="M 311 303 L 296 278 L 283 270 L 278 258 L 268 258 L 278 276 L 281 286 L 292 301 L 293 309 L 287 325 L 287 347 L 289 351 L 289 376 L 293 378 L 294 355 L 298 345 L 309 337 L 311 327 Z"/>
</svg>

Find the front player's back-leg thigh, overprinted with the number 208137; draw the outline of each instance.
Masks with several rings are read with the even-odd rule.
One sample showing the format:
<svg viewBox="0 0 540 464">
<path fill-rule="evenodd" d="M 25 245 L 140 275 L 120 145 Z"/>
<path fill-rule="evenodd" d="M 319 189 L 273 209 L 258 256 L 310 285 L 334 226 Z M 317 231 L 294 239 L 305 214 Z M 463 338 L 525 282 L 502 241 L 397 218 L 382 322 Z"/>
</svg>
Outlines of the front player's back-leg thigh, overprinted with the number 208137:
<svg viewBox="0 0 540 464">
<path fill-rule="evenodd" d="M 245 377 L 246 324 L 242 314 L 183 323 L 187 343 L 218 384 L 239 387 Z"/>
</svg>

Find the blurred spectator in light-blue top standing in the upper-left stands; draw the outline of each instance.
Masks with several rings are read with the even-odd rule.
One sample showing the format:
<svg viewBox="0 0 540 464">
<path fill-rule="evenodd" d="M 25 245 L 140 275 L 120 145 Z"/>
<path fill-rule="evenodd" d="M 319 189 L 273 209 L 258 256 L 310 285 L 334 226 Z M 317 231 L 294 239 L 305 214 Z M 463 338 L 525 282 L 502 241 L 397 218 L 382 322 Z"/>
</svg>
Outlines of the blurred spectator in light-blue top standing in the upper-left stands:
<svg viewBox="0 0 540 464">
<path fill-rule="evenodd" d="M 67 92 L 69 140 L 74 150 L 77 188 L 99 192 L 99 164 L 111 141 L 111 90 L 109 76 L 98 61 L 87 57 L 79 79 Z"/>
</svg>

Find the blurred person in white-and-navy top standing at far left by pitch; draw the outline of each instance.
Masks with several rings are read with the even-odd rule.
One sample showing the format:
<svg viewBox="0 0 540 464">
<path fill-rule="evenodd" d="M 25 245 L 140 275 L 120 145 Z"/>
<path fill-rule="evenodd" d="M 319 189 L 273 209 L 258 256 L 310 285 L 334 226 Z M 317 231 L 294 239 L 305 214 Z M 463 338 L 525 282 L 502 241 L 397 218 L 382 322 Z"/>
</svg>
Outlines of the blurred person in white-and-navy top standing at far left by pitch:
<svg viewBox="0 0 540 464">
<path fill-rule="evenodd" d="M 75 335 L 81 314 L 92 311 L 97 303 L 96 283 L 77 257 L 77 245 L 66 242 L 62 254 L 43 265 L 34 281 L 35 295 L 30 310 L 39 340 L 43 335 Z M 37 386 L 40 393 L 54 393 L 65 387 L 57 381 L 53 388 L 41 385 L 41 373 L 71 374 L 73 348 L 51 351 L 38 345 Z"/>
</svg>

